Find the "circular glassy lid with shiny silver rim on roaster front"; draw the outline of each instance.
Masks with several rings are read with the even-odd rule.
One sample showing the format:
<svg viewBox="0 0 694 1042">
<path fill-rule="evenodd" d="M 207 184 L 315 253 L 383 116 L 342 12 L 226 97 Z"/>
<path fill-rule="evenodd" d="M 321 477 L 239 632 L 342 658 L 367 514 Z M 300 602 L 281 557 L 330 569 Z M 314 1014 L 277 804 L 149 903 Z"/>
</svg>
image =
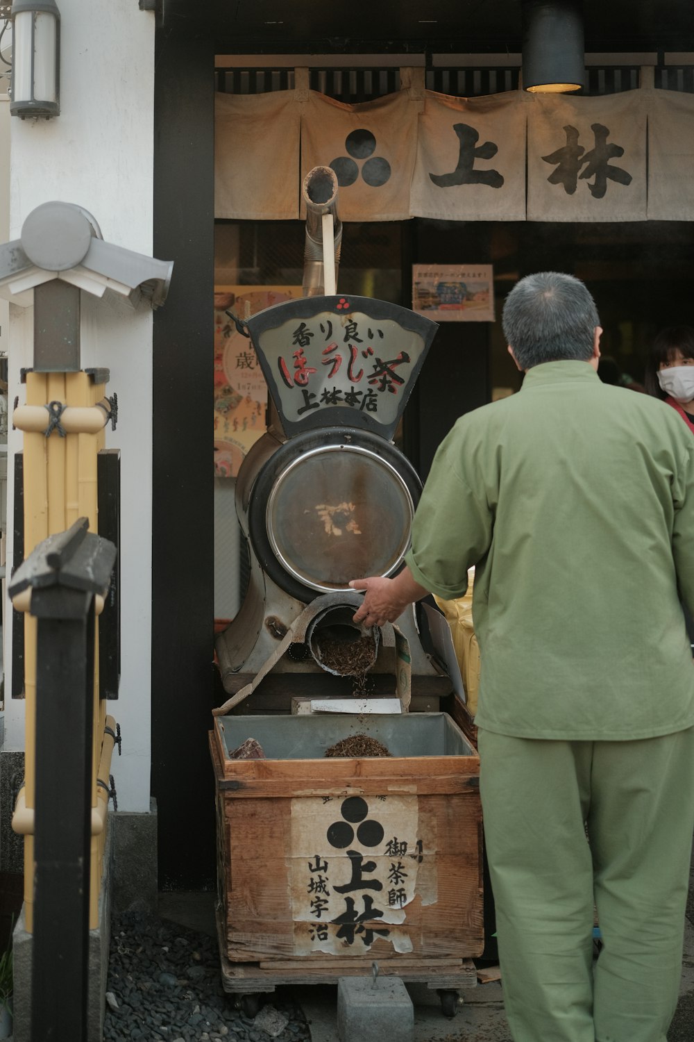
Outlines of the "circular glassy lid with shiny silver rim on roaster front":
<svg viewBox="0 0 694 1042">
<path fill-rule="evenodd" d="M 313 590 L 388 575 L 414 516 L 403 477 L 371 449 L 328 445 L 282 471 L 267 498 L 267 538 L 283 568 Z"/>
</svg>

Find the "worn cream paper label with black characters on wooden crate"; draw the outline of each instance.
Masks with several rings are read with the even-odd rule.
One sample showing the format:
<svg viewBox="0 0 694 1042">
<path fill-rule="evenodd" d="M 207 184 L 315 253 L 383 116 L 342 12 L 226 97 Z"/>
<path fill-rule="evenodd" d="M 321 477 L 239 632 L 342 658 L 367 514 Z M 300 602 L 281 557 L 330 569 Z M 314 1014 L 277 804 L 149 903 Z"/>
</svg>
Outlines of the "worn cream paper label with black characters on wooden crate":
<svg viewBox="0 0 694 1042">
<path fill-rule="evenodd" d="M 436 899 L 433 854 L 417 796 L 292 799 L 294 951 L 358 957 L 379 939 L 411 951 L 407 907 Z"/>
</svg>

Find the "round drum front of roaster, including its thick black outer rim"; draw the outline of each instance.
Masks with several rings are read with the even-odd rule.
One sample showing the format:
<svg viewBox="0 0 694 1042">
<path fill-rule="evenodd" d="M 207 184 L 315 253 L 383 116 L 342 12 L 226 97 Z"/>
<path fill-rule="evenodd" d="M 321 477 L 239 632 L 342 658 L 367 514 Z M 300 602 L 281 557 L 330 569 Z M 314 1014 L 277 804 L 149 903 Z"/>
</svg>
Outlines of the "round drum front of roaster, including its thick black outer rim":
<svg viewBox="0 0 694 1042">
<path fill-rule="evenodd" d="M 409 461 L 366 430 L 298 435 L 264 464 L 249 502 L 263 570 L 291 596 L 391 575 L 403 562 L 419 496 Z"/>
</svg>

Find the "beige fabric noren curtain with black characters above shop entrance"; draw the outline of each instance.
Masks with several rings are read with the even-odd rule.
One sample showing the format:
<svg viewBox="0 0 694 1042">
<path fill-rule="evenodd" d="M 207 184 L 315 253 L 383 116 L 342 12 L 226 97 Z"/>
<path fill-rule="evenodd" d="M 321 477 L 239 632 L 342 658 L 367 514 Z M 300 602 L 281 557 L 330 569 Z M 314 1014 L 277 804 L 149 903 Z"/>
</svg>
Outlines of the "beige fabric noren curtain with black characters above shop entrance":
<svg viewBox="0 0 694 1042">
<path fill-rule="evenodd" d="M 335 170 L 344 221 L 694 220 L 694 107 L 684 93 L 403 90 L 358 105 L 311 91 L 221 98 L 217 217 L 299 218 L 310 162 Z"/>
</svg>

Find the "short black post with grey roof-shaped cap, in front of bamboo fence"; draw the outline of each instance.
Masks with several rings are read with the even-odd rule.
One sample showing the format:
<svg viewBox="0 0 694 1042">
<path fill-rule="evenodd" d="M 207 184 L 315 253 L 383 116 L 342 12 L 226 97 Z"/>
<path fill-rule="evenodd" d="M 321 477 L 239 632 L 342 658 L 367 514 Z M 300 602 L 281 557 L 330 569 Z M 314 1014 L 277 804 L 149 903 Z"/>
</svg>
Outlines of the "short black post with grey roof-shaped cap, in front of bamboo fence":
<svg viewBox="0 0 694 1042">
<path fill-rule="evenodd" d="M 86 518 L 15 573 L 37 620 L 30 1042 L 85 1042 L 88 982 L 95 594 L 115 547 Z"/>
</svg>

